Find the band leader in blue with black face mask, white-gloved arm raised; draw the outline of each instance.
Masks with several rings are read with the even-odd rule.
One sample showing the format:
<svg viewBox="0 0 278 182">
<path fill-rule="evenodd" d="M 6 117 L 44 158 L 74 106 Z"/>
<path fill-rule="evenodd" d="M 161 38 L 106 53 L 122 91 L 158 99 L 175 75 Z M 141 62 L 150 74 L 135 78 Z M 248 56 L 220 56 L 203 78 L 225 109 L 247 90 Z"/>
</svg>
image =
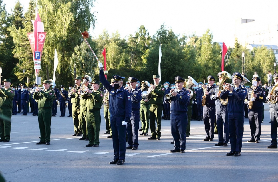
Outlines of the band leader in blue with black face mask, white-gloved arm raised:
<svg viewBox="0 0 278 182">
<path fill-rule="evenodd" d="M 114 75 L 114 87 L 106 80 L 102 63 L 99 79 L 103 86 L 109 91 L 110 122 L 113 131 L 114 160 L 109 164 L 121 165 L 126 157 L 126 125 L 131 117 L 131 99 L 128 91 L 122 88 L 124 77 Z"/>
</svg>

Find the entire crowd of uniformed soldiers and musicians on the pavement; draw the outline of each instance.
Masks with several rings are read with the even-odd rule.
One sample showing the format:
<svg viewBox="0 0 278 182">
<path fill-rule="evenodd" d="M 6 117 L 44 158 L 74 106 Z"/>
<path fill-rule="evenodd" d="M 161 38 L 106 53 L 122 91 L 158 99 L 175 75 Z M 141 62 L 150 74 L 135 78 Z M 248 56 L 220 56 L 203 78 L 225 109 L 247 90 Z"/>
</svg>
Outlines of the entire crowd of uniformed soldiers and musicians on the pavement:
<svg viewBox="0 0 278 182">
<path fill-rule="evenodd" d="M 171 123 L 174 149 L 170 152 L 185 152 L 186 137 L 190 136 L 190 121 L 197 120 L 204 121 L 204 141 L 213 141 L 214 134 L 218 133 L 215 146 L 228 146 L 230 140 L 231 151 L 226 155 L 240 156 L 244 117 L 249 118 L 250 124 L 251 137 L 248 142 L 259 143 L 263 105 L 269 101 L 272 141 L 267 148 L 277 148 L 278 74 L 273 75 L 275 85 L 268 89 L 267 84 L 262 87 L 258 75 L 252 78 L 252 87 L 245 87 L 246 77 L 239 72 L 229 78 L 232 84 L 226 83 L 227 78 L 223 72 L 219 72 L 218 83 L 209 75 L 206 84 L 199 82 L 188 88 L 188 80 L 179 76 L 174 78 L 175 83 L 171 85 L 169 82 L 161 84 L 159 75 L 153 75 L 154 84 L 129 77 L 123 85 L 125 78 L 118 75 L 108 82 L 102 63 L 99 63 L 99 68 L 100 81 L 92 81 L 88 75 L 77 76 L 75 85 L 70 84 L 68 91 L 63 85 L 59 91 L 49 80 L 43 82 L 43 87 L 35 84 L 28 90 L 24 85 L 19 85 L 16 90 L 14 86 L 10 88 L 11 80 L 5 79 L 5 84 L 0 85 L 0 111 L 10 108 L 11 115 L 21 112 L 27 115 L 30 103 L 32 115 L 38 116 L 41 132 L 41 139 L 36 144 L 49 145 L 51 117 L 56 116 L 59 101 L 60 117 L 65 116 L 68 108 L 68 117 L 73 118 L 72 136 L 82 136 L 79 140 L 89 141 L 86 147 L 98 147 L 100 110 L 104 105 L 105 134 L 109 134 L 107 138 L 113 140 L 115 155 L 110 164 L 121 165 L 125 162 L 126 150 L 138 149 L 139 131 L 142 131 L 141 136 L 150 136 L 148 140 L 160 140 L 162 119 Z M 100 83 L 103 88 L 100 88 Z M 7 117 L 11 118 L 11 115 Z M 142 126 L 139 129 L 140 120 Z M 3 123 L 8 124 L 3 127 Z M 9 123 L 5 117 L 0 117 L 0 141 L 9 142 Z"/>
</svg>

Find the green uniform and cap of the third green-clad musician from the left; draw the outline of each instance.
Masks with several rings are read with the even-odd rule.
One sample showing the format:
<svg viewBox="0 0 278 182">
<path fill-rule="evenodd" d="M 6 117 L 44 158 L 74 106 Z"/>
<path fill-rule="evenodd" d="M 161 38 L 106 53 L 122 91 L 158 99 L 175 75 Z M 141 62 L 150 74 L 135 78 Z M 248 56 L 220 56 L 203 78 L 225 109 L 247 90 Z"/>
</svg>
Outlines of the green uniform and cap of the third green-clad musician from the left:
<svg viewBox="0 0 278 182">
<path fill-rule="evenodd" d="M 75 80 L 81 80 L 81 77 L 76 77 Z M 81 124 L 79 121 L 79 115 L 80 115 L 80 98 L 78 97 L 79 95 L 77 94 L 78 90 L 80 89 L 81 85 L 78 87 L 77 85 L 74 87 L 76 92 L 72 92 L 72 95 L 70 96 L 71 98 L 71 103 L 72 103 L 72 118 L 73 118 L 73 125 L 74 125 L 74 135 L 76 136 L 77 134 L 82 133 L 81 129 Z"/>
</svg>

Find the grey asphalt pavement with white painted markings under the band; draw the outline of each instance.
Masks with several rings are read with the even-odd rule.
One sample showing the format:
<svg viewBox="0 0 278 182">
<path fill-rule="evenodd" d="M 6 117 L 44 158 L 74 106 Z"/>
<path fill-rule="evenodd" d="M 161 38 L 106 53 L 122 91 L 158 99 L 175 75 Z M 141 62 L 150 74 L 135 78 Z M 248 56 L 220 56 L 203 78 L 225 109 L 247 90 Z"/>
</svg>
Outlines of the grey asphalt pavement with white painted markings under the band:
<svg viewBox="0 0 278 182">
<path fill-rule="evenodd" d="M 108 164 L 114 151 L 112 139 L 104 134 L 103 109 L 99 147 L 85 147 L 88 141 L 72 137 L 72 117 L 59 117 L 59 106 L 57 110 L 51 121 L 50 145 L 36 145 L 40 136 L 37 116 L 12 116 L 11 141 L 0 143 L 0 171 L 6 181 L 278 181 L 278 149 L 267 149 L 271 143 L 267 106 L 260 143 L 247 143 L 250 127 L 245 118 L 239 157 L 225 155 L 229 144 L 215 146 L 217 134 L 213 141 L 203 141 L 203 121 L 191 121 L 185 153 L 170 153 L 174 148 L 170 120 L 162 120 L 161 140 L 147 140 L 150 131 L 149 136 L 139 136 L 138 150 L 126 150 L 123 165 Z"/>
</svg>

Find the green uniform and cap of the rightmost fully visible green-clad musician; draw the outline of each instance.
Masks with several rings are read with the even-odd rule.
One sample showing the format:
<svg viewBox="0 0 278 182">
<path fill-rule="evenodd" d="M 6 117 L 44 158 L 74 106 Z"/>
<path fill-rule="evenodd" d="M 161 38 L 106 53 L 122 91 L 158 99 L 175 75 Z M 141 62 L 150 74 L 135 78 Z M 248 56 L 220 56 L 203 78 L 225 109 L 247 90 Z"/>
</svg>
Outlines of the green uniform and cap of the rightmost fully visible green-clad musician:
<svg viewBox="0 0 278 182">
<path fill-rule="evenodd" d="M 159 75 L 154 75 L 154 77 Z M 151 92 L 150 99 L 150 129 L 152 139 L 160 139 L 161 137 L 161 116 L 162 116 L 162 103 L 164 97 L 164 86 L 160 83 Z M 155 127 L 156 124 L 156 127 Z M 151 139 L 150 138 L 150 139 Z"/>
</svg>

